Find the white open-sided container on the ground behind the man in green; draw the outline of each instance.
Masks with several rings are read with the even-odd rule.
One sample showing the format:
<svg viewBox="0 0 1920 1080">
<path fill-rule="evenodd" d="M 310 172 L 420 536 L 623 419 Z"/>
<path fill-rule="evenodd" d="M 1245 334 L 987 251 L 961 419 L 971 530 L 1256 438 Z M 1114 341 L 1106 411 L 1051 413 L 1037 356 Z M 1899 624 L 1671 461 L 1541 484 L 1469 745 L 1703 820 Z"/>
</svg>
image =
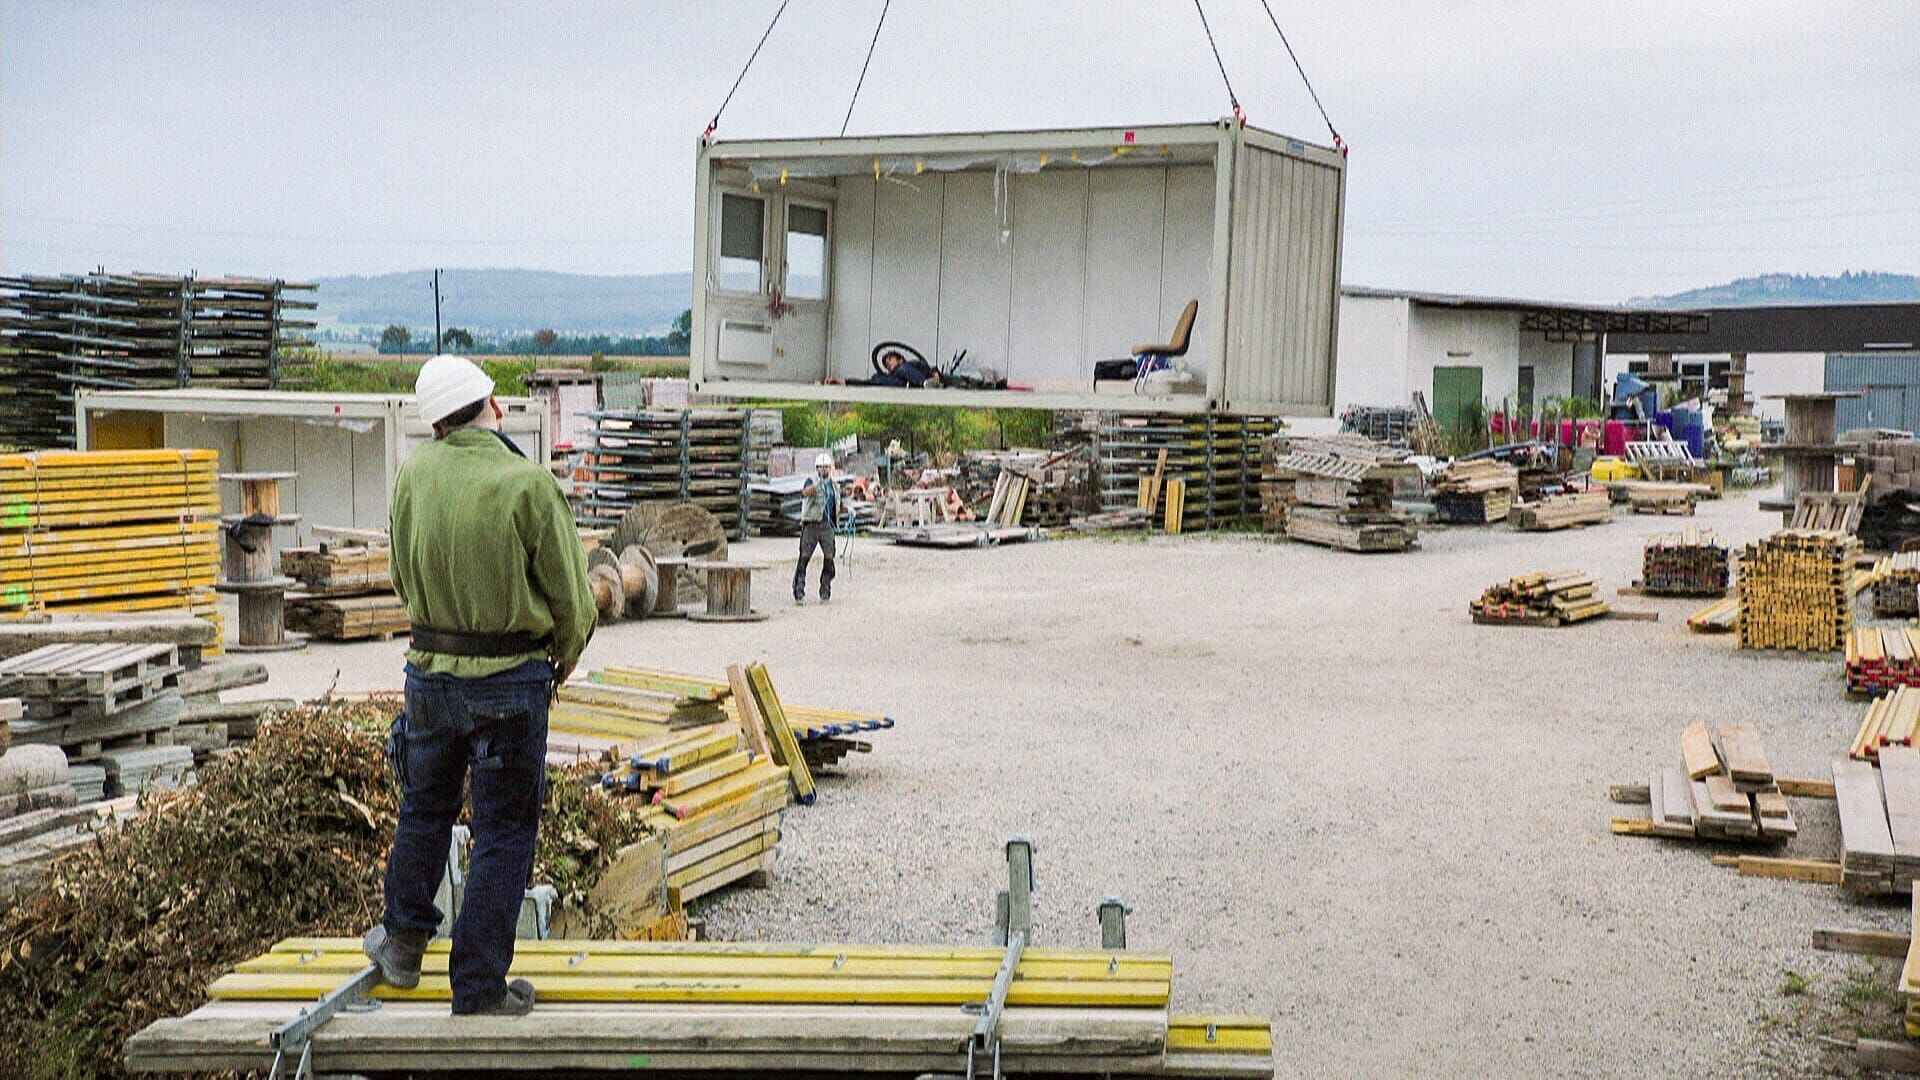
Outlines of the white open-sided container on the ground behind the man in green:
<svg viewBox="0 0 1920 1080">
<path fill-rule="evenodd" d="M 501 398 L 503 434 L 534 461 L 547 461 L 549 409 L 534 398 Z M 276 544 L 311 544 L 315 525 L 386 528 L 388 496 L 401 461 L 434 438 L 403 394 L 280 394 L 273 390 L 81 390 L 75 400 L 83 450 L 200 448 L 221 454 L 221 473 L 298 473 L 280 503 L 301 515 L 276 528 Z M 238 513 L 238 484 L 221 502 Z"/>
</svg>

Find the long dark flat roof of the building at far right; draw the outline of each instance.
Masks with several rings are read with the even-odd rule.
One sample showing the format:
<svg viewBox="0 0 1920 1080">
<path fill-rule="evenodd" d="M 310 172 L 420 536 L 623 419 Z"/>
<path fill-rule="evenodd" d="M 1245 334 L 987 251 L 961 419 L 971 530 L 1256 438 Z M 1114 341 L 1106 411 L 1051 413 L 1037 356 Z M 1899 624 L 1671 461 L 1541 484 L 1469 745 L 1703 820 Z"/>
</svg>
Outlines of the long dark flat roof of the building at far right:
<svg viewBox="0 0 1920 1080">
<path fill-rule="evenodd" d="M 1920 302 L 1707 307 L 1705 334 L 1622 332 L 1609 354 L 1864 352 L 1920 348 Z"/>
</svg>

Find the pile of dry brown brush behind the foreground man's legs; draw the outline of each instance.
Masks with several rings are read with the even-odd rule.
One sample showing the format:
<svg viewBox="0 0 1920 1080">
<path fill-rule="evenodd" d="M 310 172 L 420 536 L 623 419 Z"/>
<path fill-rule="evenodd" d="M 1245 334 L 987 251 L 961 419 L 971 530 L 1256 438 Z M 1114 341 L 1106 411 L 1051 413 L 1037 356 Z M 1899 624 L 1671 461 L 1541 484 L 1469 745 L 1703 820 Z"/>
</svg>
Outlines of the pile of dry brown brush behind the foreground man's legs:
<svg viewBox="0 0 1920 1080">
<path fill-rule="evenodd" d="M 396 705 L 280 713 L 0 915 L 0 1076 L 119 1076 L 127 1036 L 198 1007 L 234 963 L 286 936 L 371 926 L 397 813 L 382 753 Z M 578 909 L 639 826 L 614 799 L 549 780 L 534 878 Z"/>
</svg>

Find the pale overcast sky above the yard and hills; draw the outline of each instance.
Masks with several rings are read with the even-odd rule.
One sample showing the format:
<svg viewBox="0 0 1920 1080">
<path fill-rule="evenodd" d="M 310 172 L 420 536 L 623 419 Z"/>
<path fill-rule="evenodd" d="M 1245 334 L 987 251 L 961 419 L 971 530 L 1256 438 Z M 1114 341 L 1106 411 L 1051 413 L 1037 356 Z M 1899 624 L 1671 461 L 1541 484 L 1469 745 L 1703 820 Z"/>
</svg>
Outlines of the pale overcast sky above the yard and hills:
<svg viewBox="0 0 1920 1080">
<path fill-rule="evenodd" d="M 1920 4 L 1271 0 L 1350 158 L 1350 284 L 1624 300 L 1920 271 Z M 0 267 L 691 267 L 778 0 L 0 6 Z M 722 136 L 833 135 L 881 0 L 791 0 Z M 1252 123 L 1329 142 L 1260 0 Z M 1190 0 L 893 0 L 851 133 L 1212 119 Z"/>
</svg>

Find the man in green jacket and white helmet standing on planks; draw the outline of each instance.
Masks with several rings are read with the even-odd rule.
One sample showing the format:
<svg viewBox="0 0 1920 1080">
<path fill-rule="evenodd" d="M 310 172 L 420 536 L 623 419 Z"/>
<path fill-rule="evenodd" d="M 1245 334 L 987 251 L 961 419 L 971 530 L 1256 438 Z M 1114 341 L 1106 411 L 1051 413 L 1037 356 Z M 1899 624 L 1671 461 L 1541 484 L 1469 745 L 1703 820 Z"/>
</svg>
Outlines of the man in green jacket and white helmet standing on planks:
<svg viewBox="0 0 1920 1080">
<path fill-rule="evenodd" d="M 593 634 L 593 594 L 566 498 L 501 434 L 493 380 L 436 356 L 415 396 L 434 442 L 401 467 L 392 502 L 394 592 L 413 621 L 407 705 L 388 736 L 401 805 L 386 915 L 365 949 L 388 984 L 419 984 L 470 774 L 453 1013 L 518 1017 L 534 986 L 509 984 L 507 969 L 545 805 L 547 705 Z"/>
</svg>

